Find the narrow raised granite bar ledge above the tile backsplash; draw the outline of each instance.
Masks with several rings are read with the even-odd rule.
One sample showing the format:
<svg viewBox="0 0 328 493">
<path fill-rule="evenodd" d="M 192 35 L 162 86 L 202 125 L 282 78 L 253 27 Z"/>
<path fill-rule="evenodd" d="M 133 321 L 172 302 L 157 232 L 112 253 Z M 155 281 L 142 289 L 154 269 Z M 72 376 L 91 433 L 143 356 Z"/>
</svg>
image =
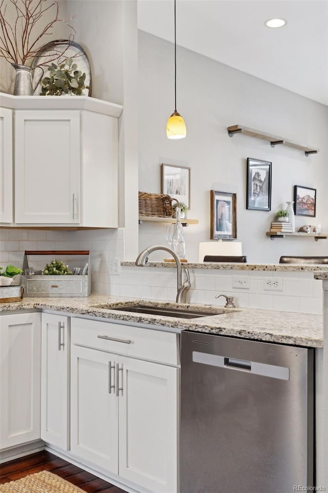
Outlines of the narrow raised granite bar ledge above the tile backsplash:
<svg viewBox="0 0 328 493">
<path fill-rule="evenodd" d="M 136 267 L 135 261 L 121 262 L 122 267 Z M 285 272 L 314 272 L 320 271 L 328 274 L 328 264 L 296 264 L 296 263 L 228 263 L 228 262 L 184 262 L 188 269 L 223 269 L 228 271 L 285 271 Z M 146 267 L 176 268 L 175 262 L 147 262 Z"/>
</svg>

